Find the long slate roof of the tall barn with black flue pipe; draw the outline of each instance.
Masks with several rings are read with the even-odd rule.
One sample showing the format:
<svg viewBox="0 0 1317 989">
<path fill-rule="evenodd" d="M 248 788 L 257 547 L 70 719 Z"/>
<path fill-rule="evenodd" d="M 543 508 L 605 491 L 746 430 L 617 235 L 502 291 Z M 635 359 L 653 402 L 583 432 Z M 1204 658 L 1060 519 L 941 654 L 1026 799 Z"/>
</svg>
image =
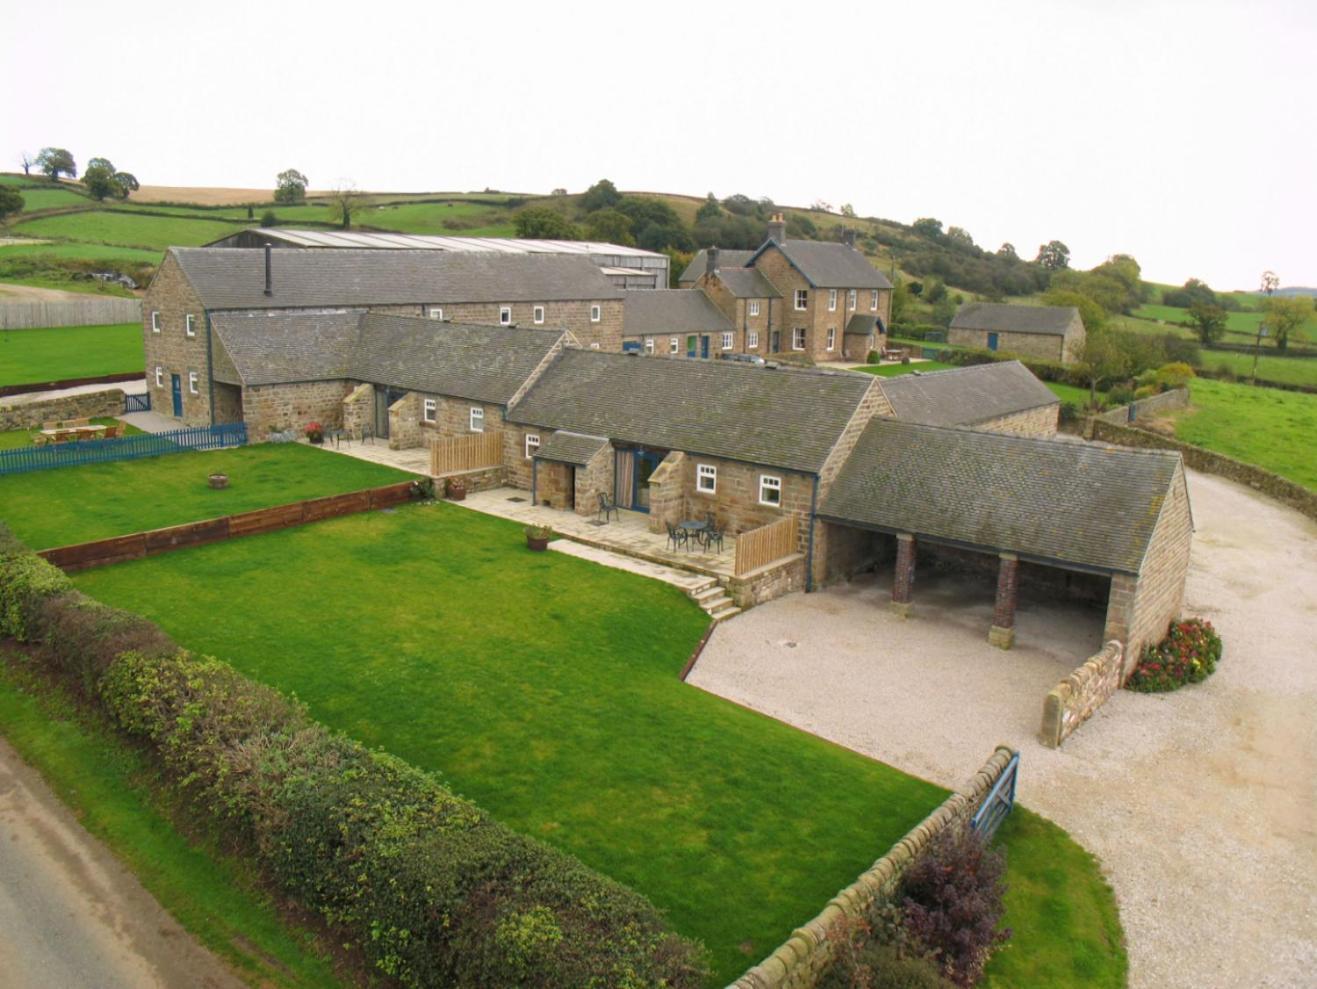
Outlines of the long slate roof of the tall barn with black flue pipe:
<svg viewBox="0 0 1317 989">
<path fill-rule="evenodd" d="M 439 250 L 170 248 L 207 309 L 396 306 L 440 302 L 622 299 L 585 255 Z"/>
</svg>

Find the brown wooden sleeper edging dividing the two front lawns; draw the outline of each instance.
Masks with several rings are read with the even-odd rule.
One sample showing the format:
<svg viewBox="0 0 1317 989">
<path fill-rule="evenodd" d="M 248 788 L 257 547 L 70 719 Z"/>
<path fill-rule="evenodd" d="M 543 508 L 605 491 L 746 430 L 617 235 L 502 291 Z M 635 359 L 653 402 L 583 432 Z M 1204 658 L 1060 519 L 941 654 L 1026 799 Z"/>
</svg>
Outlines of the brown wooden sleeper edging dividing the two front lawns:
<svg viewBox="0 0 1317 989">
<path fill-rule="evenodd" d="M 333 519 L 340 515 L 390 508 L 416 496 L 416 482 L 400 481 L 395 485 L 369 487 L 363 491 L 311 498 L 304 502 L 278 504 L 273 508 L 254 508 L 237 515 L 221 515 L 217 519 L 184 521 L 179 525 L 133 532 L 128 536 L 111 536 L 91 543 L 42 549 L 37 556 L 66 573 L 74 573 L 92 566 L 120 564 L 125 560 L 141 560 L 157 553 L 219 543 L 225 539 L 275 532 L 291 525 L 304 525 L 308 521 Z"/>
</svg>

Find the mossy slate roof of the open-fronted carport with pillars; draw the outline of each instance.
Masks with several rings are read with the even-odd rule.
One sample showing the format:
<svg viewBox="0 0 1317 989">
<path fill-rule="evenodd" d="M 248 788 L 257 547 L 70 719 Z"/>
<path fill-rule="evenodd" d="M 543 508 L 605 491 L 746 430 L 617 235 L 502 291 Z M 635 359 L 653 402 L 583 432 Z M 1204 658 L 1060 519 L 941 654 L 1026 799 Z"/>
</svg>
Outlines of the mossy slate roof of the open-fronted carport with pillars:
<svg viewBox="0 0 1317 989">
<path fill-rule="evenodd" d="M 874 419 L 819 516 L 1135 574 L 1179 464 L 1168 450 Z"/>
</svg>

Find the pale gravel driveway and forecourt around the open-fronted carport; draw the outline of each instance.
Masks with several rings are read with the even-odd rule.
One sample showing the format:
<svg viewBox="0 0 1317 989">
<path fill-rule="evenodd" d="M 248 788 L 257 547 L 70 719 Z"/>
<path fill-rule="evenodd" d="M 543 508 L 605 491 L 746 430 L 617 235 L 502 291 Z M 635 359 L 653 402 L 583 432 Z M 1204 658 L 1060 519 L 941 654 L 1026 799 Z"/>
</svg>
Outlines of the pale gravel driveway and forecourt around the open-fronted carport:
<svg viewBox="0 0 1317 989">
<path fill-rule="evenodd" d="M 1118 693 L 1062 749 L 1038 743 L 1043 694 L 1100 618 L 1022 610 L 1004 653 L 986 643 L 990 598 L 939 599 L 954 585 L 917 585 L 906 623 L 880 585 L 753 608 L 689 682 L 947 786 L 1014 745 L 1021 801 L 1104 863 L 1131 986 L 1312 985 L 1317 525 L 1216 477 L 1191 471 L 1189 494 L 1185 611 L 1220 629 L 1222 662 L 1175 694 Z"/>
</svg>

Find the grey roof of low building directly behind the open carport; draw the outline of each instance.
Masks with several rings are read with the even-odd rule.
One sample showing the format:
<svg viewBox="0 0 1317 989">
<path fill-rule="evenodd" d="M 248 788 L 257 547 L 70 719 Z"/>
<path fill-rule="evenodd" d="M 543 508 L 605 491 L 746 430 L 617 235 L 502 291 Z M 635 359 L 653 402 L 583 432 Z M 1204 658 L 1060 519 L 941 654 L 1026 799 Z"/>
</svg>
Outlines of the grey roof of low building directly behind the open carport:
<svg viewBox="0 0 1317 989">
<path fill-rule="evenodd" d="M 897 419 L 927 425 L 975 425 L 1060 399 L 1019 361 L 880 378 Z"/>
</svg>

